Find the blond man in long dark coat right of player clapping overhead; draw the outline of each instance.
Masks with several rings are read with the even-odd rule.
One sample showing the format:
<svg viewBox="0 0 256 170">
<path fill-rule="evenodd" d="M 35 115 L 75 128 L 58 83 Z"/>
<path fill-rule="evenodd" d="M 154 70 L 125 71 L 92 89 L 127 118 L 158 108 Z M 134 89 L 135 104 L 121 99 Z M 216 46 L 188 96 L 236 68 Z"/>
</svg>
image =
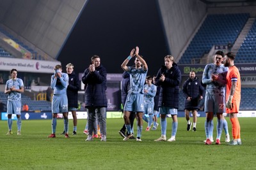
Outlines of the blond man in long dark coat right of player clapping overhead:
<svg viewBox="0 0 256 170">
<path fill-rule="evenodd" d="M 172 115 L 172 136 L 167 141 L 175 141 L 178 128 L 178 109 L 179 109 L 179 85 L 181 73 L 172 55 L 164 57 L 164 66 L 162 66 L 156 76 L 156 85 L 161 85 L 159 95 L 160 114 L 161 114 L 161 137 L 155 141 L 166 141 L 166 115 Z"/>
</svg>

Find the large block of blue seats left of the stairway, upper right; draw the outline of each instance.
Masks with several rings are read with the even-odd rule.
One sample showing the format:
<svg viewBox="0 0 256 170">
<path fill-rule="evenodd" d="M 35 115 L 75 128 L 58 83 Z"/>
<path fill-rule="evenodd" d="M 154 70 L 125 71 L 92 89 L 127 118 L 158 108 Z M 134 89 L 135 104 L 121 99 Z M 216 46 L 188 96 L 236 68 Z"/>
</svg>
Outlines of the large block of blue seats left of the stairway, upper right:
<svg viewBox="0 0 256 170">
<path fill-rule="evenodd" d="M 208 15 L 179 64 L 191 64 L 192 59 L 198 59 L 199 63 L 212 46 L 227 45 L 229 41 L 233 44 L 249 17 L 249 13 Z"/>
</svg>

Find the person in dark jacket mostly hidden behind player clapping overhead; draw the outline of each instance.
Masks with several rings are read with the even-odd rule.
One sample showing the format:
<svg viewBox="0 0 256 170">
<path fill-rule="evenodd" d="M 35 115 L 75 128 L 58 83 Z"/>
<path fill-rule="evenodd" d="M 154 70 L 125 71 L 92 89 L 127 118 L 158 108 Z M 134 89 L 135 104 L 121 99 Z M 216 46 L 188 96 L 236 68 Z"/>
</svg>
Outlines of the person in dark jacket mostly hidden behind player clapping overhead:
<svg viewBox="0 0 256 170">
<path fill-rule="evenodd" d="M 123 79 L 122 79 L 122 82 L 121 82 L 121 85 L 122 85 L 122 88 L 121 88 L 121 103 L 122 103 L 122 106 L 124 107 L 126 97 L 127 97 L 128 91 L 130 89 L 130 74 L 127 73 L 126 71 L 124 71 L 122 76 L 123 76 Z M 129 117 L 130 122 L 131 122 L 132 132 L 133 132 L 133 122 L 134 122 L 135 116 L 136 115 L 134 113 L 131 113 L 131 115 Z M 125 136 L 126 136 L 125 131 L 126 131 L 126 127 L 125 127 L 125 124 L 124 124 L 122 129 L 120 129 L 120 131 L 118 133 L 123 138 L 125 138 Z M 135 138 L 132 136 L 130 139 L 135 139 Z"/>
</svg>

